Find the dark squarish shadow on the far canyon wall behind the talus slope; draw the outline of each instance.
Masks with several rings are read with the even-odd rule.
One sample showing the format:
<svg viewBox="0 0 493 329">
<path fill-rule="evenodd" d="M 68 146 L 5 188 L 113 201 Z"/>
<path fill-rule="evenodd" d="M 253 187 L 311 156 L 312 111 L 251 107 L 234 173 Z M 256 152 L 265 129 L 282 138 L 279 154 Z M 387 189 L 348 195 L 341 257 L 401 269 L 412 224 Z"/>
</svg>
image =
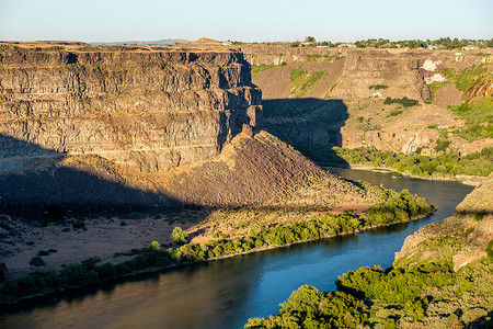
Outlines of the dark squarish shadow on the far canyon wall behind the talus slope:
<svg viewBox="0 0 493 329">
<path fill-rule="evenodd" d="M 321 166 L 349 167 L 332 149 L 342 145 L 341 127 L 348 116 L 342 100 L 275 99 L 262 105 L 268 133 Z"/>
</svg>

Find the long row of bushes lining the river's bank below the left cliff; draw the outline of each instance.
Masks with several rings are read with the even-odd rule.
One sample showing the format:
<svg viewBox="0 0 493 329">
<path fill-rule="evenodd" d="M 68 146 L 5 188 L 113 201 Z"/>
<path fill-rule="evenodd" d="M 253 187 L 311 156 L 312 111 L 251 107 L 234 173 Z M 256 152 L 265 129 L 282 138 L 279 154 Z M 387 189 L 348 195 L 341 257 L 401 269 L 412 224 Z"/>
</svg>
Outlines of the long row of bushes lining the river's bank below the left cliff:
<svg viewBox="0 0 493 329">
<path fill-rule="evenodd" d="M 59 272 L 35 271 L 9 280 L 0 288 L 0 303 L 15 303 L 27 297 L 96 285 L 137 273 L 353 234 L 371 227 L 422 218 L 435 211 L 425 198 L 406 190 L 398 193 L 377 186 L 372 189 L 381 194 L 381 203 L 369 208 L 363 216 L 324 214 L 319 219 L 252 229 L 244 237 L 209 240 L 204 245 L 185 243 L 165 250 L 161 249 L 159 242 L 153 241 L 148 248 L 133 250 L 134 259 L 117 264 L 107 262 L 100 265 L 96 260 L 88 259 L 80 264 L 67 265 Z"/>
</svg>

